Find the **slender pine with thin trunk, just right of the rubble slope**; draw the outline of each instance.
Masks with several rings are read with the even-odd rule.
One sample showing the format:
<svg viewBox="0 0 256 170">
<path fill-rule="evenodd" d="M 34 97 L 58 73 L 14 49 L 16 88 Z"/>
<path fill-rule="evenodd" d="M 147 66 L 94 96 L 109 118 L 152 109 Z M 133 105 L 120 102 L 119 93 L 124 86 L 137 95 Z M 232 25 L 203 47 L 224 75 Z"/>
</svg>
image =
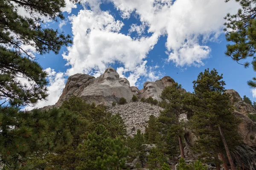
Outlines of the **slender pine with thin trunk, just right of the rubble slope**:
<svg viewBox="0 0 256 170">
<path fill-rule="evenodd" d="M 183 105 L 182 100 L 185 97 L 185 91 L 178 83 L 173 83 L 171 86 L 167 86 L 163 89 L 160 98 L 162 100 L 168 100 L 165 110 L 161 111 L 159 121 L 166 124 L 166 127 L 177 136 L 180 145 L 180 154 L 185 158 L 183 149 L 183 122 L 180 120 L 180 115 L 186 113 L 186 106 Z"/>
</svg>

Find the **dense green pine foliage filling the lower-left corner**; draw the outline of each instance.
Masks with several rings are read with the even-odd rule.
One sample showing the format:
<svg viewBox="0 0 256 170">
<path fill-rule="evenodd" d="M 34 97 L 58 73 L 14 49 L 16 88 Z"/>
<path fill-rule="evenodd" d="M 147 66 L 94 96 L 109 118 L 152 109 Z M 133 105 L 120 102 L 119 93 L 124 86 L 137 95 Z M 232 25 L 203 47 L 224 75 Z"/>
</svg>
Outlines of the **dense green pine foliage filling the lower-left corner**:
<svg viewBox="0 0 256 170">
<path fill-rule="evenodd" d="M 71 130 L 67 126 L 76 124 L 78 118 L 57 108 L 27 112 L 0 107 L 0 122 L 0 165 L 18 168 L 32 157 L 69 144 Z"/>
</svg>

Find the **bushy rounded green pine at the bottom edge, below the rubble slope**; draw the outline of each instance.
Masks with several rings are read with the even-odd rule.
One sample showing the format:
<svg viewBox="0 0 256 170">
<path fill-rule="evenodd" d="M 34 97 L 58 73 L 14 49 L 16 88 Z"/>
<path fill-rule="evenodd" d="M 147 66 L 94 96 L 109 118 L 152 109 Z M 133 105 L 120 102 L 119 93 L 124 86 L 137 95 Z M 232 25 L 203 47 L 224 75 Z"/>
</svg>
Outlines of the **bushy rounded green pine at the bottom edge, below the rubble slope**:
<svg viewBox="0 0 256 170">
<path fill-rule="evenodd" d="M 79 148 L 77 155 L 82 161 L 77 170 L 121 170 L 129 152 L 120 138 L 110 138 L 103 125 L 98 125 Z"/>
</svg>

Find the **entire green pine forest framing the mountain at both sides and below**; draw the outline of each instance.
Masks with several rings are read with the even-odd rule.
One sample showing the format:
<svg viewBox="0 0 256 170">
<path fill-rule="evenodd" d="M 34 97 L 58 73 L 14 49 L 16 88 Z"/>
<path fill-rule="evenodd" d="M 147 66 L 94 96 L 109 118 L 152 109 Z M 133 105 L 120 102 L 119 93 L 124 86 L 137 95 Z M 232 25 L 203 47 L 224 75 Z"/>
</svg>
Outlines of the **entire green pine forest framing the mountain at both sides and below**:
<svg viewBox="0 0 256 170">
<path fill-rule="evenodd" d="M 78 3 L 78 0 L 71 0 Z M 226 0 L 229 1 L 229 0 Z M 236 31 L 227 33 L 226 54 L 239 62 L 253 57 L 256 71 L 255 1 L 236 0 L 245 13 L 228 14 L 225 24 Z M 222 75 L 206 69 L 193 82 L 193 93 L 186 93 L 174 83 L 164 88 L 158 103 L 152 98 L 142 99 L 163 107 L 159 117 L 150 116 L 145 134 L 137 130 L 127 137 L 119 114 L 112 115 L 103 105 L 88 104 L 72 96 L 60 108 L 23 111 L 47 99 L 47 73 L 36 62 L 31 45 L 43 55 L 58 54 L 62 46 L 72 43 L 70 35 L 53 28 L 44 28 L 44 21 L 63 20 L 64 0 L 0 0 L 0 169 L 3 170 L 122 170 L 126 162 L 137 159 L 136 168 L 169 170 L 168 160 L 177 160 L 179 170 L 205 170 L 202 163 L 213 162 L 220 170 L 241 168 L 235 165 L 231 152 L 241 144 L 238 125 L 229 95 L 225 94 Z M 30 17 L 18 14 L 23 7 Z M 227 31 L 227 30 L 226 30 Z M 243 63 L 248 66 L 249 62 Z M 19 79 L 27 79 L 23 84 Z M 256 78 L 248 85 L 256 87 Z M 255 102 L 244 96 L 244 102 L 255 108 Z M 134 102 L 139 102 L 136 97 Z M 168 101 L 168 102 L 166 102 Z M 125 104 L 126 101 L 121 101 Z M 116 103 L 113 103 L 113 106 Z M 190 113 L 188 121 L 180 115 Z M 251 117 L 251 119 L 256 119 Z M 184 153 L 184 134 L 189 131 L 197 140 L 192 147 L 198 160 L 187 164 Z M 155 144 L 149 154 L 145 144 Z"/>
</svg>

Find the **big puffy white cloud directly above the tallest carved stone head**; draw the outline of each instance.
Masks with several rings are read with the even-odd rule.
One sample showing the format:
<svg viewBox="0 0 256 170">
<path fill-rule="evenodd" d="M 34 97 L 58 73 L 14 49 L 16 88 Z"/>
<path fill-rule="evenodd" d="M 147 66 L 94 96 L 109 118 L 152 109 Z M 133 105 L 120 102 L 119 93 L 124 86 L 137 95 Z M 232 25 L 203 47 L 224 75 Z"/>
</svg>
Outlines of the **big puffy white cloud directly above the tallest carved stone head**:
<svg viewBox="0 0 256 170">
<path fill-rule="evenodd" d="M 70 17 L 73 31 L 73 46 L 63 54 L 67 65 L 67 75 L 91 73 L 97 75 L 115 62 L 124 65 L 125 71 L 136 72 L 143 65 L 146 55 L 158 40 L 158 34 L 133 40 L 119 33 L 123 23 L 115 20 L 108 11 L 81 10 L 77 16 Z M 93 74 L 93 73 L 92 73 Z"/>
</svg>

